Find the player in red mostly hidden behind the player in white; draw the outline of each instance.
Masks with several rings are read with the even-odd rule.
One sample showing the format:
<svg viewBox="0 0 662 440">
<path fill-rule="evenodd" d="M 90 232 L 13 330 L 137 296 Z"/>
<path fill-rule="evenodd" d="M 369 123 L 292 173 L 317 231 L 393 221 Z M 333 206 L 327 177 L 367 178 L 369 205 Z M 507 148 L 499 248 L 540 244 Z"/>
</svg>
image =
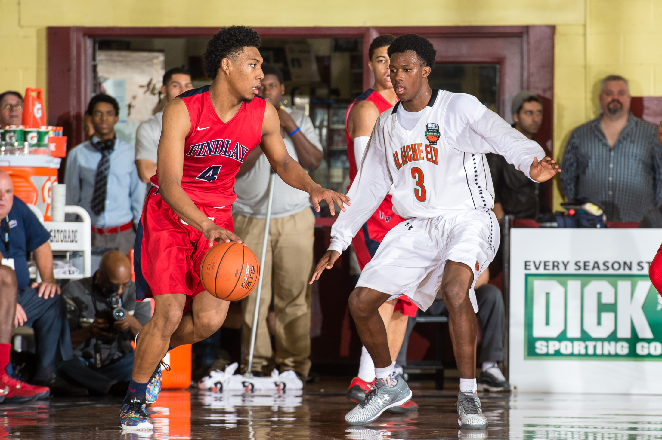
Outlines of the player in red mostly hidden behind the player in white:
<svg viewBox="0 0 662 440">
<path fill-rule="evenodd" d="M 375 127 L 377 117 L 381 112 L 391 109 L 398 102 L 393 85 L 391 85 L 389 56 L 386 53 L 393 40 L 395 40 L 395 36 L 383 34 L 371 42 L 368 51 L 368 67 L 375 75 L 375 83 L 371 89 L 367 89 L 355 99 L 345 114 L 347 155 L 350 160 L 350 183 L 356 177 L 357 168 L 361 164 L 365 146 L 367 146 Z M 352 240 L 356 259 L 361 270 L 375 255 L 375 251 L 377 251 L 377 247 L 379 247 L 379 243 L 381 243 L 386 233 L 402 220 L 393 212 L 391 195 L 388 195 Z M 416 316 L 416 310 L 418 310 L 418 307 L 406 296 L 387 301 L 379 308 L 379 314 L 387 329 L 389 350 L 393 361 L 397 358 L 402 346 L 407 326 L 407 316 Z M 363 402 L 365 394 L 374 385 L 374 381 L 375 365 L 365 347 L 361 347 L 359 374 L 352 379 L 347 390 L 347 398 L 352 402 Z M 402 414 L 416 408 L 418 406 L 410 400 L 402 407 L 391 408 L 389 412 Z"/>
</svg>

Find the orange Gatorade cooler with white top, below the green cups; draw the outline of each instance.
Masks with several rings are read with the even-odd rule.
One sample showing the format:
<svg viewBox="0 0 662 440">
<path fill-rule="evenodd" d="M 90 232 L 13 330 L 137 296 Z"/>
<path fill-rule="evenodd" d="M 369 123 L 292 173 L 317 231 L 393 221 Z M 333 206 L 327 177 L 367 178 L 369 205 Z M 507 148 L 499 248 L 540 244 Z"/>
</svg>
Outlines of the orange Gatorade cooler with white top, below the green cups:
<svg viewBox="0 0 662 440">
<path fill-rule="evenodd" d="M 39 208 L 44 213 L 46 222 L 50 222 L 50 187 L 58 183 L 60 161 L 62 161 L 60 157 L 48 155 L 0 156 L 0 169 L 7 171 L 11 176 L 14 182 L 14 195 L 27 204 L 34 204 Z"/>
</svg>

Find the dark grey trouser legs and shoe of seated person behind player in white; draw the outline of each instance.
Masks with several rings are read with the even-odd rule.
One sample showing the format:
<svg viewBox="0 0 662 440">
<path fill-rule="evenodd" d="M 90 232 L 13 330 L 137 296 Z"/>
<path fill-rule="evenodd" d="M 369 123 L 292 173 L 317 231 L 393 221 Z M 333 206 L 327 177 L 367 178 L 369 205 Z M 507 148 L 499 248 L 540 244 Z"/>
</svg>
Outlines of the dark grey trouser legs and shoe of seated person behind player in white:
<svg viewBox="0 0 662 440">
<path fill-rule="evenodd" d="M 486 269 L 476 281 L 476 300 L 478 313 L 476 318 L 481 329 L 481 355 L 483 372 L 477 380 L 478 390 L 483 391 L 510 391 L 510 384 L 501 373 L 497 363 L 503 362 L 503 337 L 506 328 L 506 314 L 501 291 L 495 285 L 487 283 L 490 279 L 489 269 Z M 418 312 L 418 316 L 448 316 L 448 309 L 438 294 L 426 312 Z M 406 365 L 407 345 L 409 335 L 416 324 L 416 318 L 409 318 L 404 342 L 398 354 L 400 365 Z"/>
</svg>

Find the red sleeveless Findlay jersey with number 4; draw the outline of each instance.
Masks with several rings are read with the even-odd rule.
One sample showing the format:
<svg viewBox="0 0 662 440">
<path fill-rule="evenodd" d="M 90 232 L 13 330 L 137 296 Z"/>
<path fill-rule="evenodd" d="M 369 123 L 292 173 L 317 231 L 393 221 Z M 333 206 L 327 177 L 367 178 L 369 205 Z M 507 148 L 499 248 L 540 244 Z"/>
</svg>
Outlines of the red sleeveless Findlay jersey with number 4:
<svg viewBox="0 0 662 440">
<path fill-rule="evenodd" d="M 237 198 L 233 188 L 239 167 L 260 144 L 267 101 L 256 96 L 250 103 L 242 103 L 232 119 L 223 122 L 209 97 L 209 85 L 179 97 L 191 118 L 191 131 L 184 141 L 181 187 L 194 203 L 228 206 Z M 150 182 L 158 187 L 158 170 Z"/>
</svg>

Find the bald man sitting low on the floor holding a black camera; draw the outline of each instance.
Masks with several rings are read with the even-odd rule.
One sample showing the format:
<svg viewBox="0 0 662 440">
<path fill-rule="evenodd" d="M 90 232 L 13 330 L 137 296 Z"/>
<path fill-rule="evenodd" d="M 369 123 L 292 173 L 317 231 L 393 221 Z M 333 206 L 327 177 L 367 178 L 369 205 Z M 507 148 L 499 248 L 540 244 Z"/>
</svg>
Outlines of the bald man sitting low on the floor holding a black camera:
<svg viewBox="0 0 662 440">
<path fill-rule="evenodd" d="M 62 294 L 75 304 L 71 320 L 73 353 L 87 367 L 101 373 L 92 379 L 97 383 L 90 391 L 98 394 L 99 390 L 109 390 L 115 382 L 128 384 L 133 369 L 131 341 L 150 320 L 152 308 L 149 302 L 136 302 L 136 288 L 126 255 L 120 251 L 106 252 L 94 275 L 71 281 Z M 113 305 L 124 308 L 123 319 L 113 317 L 113 311 L 118 310 Z M 79 384 L 89 386 L 84 380 Z M 118 392 L 124 395 L 126 388 Z"/>
</svg>

